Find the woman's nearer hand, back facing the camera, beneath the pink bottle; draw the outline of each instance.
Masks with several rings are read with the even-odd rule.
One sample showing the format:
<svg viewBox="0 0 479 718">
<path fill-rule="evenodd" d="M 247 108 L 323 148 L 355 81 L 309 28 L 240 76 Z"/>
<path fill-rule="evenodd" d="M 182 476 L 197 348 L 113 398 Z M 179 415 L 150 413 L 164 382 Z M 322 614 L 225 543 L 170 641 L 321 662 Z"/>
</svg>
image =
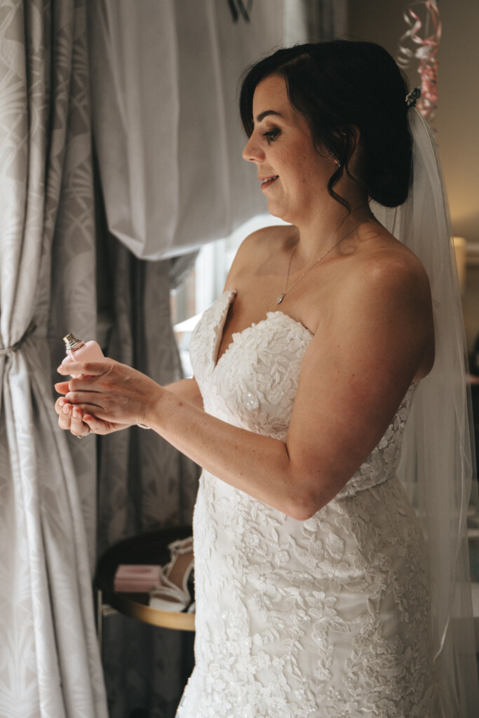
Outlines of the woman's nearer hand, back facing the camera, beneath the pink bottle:
<svg viewBox="0 0 479 718">
<path fill-rule="evenodd" d="M 164 391 L 149 377 L 113 359 L 82 363 L 66 361 L 58 372 L 80 375 L 71 378 L 68 386 L 66 382 L 55 385 L 57 391 L 65 393 L 68 404 L 78 406 L 83 414 L 91 414 L 111 424 L 149 426 L 149 416 Z"/>
</svg>

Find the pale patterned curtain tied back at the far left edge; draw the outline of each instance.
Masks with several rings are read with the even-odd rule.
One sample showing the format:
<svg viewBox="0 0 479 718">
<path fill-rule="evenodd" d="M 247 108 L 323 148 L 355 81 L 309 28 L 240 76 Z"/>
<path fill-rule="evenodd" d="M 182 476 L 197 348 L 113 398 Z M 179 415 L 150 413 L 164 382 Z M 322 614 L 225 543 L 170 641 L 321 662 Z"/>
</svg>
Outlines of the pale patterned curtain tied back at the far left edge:
<svg viewBox="0 0 479 718">
<path fill-rule="evenodd" d="M 95 447 L 69 444 L 52 392 L 57 332 L 95 325 L 85 0 L 0 17 L 0 715 L 104 718 Z"/>
</svg>

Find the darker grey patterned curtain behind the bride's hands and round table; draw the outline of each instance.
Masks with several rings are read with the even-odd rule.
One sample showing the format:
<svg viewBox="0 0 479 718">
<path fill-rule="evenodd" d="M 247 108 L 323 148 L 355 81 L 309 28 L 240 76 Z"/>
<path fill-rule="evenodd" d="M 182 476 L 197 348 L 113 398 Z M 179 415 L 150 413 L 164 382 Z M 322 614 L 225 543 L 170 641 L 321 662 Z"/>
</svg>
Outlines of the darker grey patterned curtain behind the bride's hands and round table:
<svg viewBox="0 0 479 718">
<path fill-rule="evenodd" d="M 109 356 L 167 384 L 181 378 L 169 317 L 169 261 L 138 259 L 105 230 L 104 261 L 113 323 Z M 197 467 L 152 431 L 100 439 L 98 555 L 115 541 L 192 521 Z M 103 620 L 103 669 L 111 718 L 174 716 L 192 670 L 192 634 L 121 615 Z"/>
</svg>

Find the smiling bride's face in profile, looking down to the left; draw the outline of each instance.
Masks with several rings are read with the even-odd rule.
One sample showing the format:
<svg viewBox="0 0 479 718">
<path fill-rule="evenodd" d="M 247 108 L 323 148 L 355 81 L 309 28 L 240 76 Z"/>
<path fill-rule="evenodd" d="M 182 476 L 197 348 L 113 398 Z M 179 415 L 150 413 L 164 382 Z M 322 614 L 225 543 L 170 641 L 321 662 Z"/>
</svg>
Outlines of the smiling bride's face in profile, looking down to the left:
<svg viewBox="0 0 479 718">
<path fill-rule="evenodd" d="M 289 102 L 279 75 L 256 86 L 253 120 L 243 158 L 256 163 L 269 212 L 295 225 L 309 223 L 337 169 L 335 160 L 318 153 L 307 121 Z"/>
</svg>

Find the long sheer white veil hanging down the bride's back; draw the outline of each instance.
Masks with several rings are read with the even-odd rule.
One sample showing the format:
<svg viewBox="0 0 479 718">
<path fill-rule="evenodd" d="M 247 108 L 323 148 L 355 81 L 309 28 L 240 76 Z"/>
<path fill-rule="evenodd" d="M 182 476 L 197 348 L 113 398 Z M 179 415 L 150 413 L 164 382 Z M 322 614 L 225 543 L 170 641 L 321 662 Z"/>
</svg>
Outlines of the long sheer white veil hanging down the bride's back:
<svg viewBox="0 0 479 718">
<path fill-rule="evenodd" d="M 419 257 L 431 284 L 436 359 L 417 388 L 398 474 L 427 541 L 442 713 L 466 718 L 479 716 L 479 695 L 466 526 L 474 444 L 465 335 L 437 148 L 419 112 L 411 108 L 408 115 L 413 139 L 409 198 L 399 208 L 376 204 L 372 209 Z M 473 489 L 477 492 L 476 482 Z"/>
</svg>

